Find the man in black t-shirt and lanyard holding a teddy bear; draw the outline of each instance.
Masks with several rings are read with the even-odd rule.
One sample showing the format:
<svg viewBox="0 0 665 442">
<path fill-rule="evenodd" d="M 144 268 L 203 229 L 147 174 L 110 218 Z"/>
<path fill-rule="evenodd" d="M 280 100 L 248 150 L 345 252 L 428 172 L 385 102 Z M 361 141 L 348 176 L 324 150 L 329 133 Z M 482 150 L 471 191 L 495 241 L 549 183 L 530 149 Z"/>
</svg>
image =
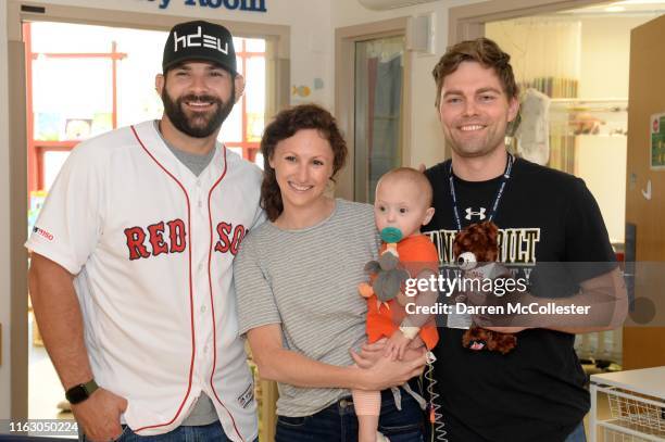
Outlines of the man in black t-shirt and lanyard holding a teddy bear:
<svg viewBox="0 0 665 442">
<path fill-rule="evenodd" d="M 611 302 L 601 319 L 523 318 L 513 327 L 493 327 L 517 336 L 517 346 L 505 355 L 464 348 L 465 330 L 454 328 L 464 321 L 449 316 L 435 349 L 441 420 L 451 442 L 584 441 L 589 393 L 574 333 L 617 327 L 627 311 L 626 291 L 584 181 L 507 153 L 506 127 L 518 112 L 509 61 L 481 38 L 450 48 L 435 67 L 436 104 L 452 159 L 426 171 L 436 213 L 423 231 L 438 248 L 441 274 L 452 276 L 454 235 L 491 219 L 500 229 L 499 261 L 516 275 L 528 275 L 537 263 L 576 263 L 555 278 L 556 290 L 545 285 L 561 291 L 548 296 L 590 305 L 600 293 Z"/>
</svg>

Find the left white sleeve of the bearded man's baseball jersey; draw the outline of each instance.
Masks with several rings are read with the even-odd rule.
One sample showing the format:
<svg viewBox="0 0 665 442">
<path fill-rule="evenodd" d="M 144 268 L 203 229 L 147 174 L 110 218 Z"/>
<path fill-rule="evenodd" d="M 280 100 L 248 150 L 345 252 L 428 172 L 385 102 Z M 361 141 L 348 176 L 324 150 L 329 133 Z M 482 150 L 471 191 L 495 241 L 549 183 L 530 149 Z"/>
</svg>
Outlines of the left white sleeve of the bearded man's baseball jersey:
<svg viewBox="0 0 665 442">
<path fill-rule="evenodd" d="M 105 174 L 97 153 L 91 144 L 72 151 L 25 243 L 73 275 L 80 271 L 102 231 Z"/>
</svg>

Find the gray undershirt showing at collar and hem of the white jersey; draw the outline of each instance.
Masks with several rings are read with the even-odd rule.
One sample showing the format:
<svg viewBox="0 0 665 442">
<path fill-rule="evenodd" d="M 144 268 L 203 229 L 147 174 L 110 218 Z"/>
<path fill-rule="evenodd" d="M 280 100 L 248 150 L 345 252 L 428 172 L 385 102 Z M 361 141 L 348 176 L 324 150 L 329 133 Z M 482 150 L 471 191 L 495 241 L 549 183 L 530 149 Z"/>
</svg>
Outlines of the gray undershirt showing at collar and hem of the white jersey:
<svg viewBox="0 0 665 442">
<path fill-rule="evenodd" d="M 162 141 L 164 144 L 173 152 L 174 155 L 180 161 L 180 163 L 185 164 L 188 169 L 191 171 L 196 176 L 201 175 L 201 172 L 208 167 L 213 156 L 215 155 L 215 149 L 211 149 L 204 155 L 197 155 L 195 153 L 189 153 L 181 151 L 171 144 L 168 141 L 164 139 L 162 132 L 160 130 L 160 122 L 158 119 L 154 121 L 154 127 L 156 128 L 158 134 L 162 137 Z M 215 147 L 218 146 L 217 144 Z M 197 400 L 197 402 L 191 406 L 189 416 L 183 420 L 180 426 L 190 426 L 198 427 L 203 425 L 210 425 L 219 420 L 217 416 L 217 412 L 215 411 L 215 406 L 213 405 L 212 400 L 208 396 L 208 394 L 201 392 L 201 395 Z"/>
</svg>

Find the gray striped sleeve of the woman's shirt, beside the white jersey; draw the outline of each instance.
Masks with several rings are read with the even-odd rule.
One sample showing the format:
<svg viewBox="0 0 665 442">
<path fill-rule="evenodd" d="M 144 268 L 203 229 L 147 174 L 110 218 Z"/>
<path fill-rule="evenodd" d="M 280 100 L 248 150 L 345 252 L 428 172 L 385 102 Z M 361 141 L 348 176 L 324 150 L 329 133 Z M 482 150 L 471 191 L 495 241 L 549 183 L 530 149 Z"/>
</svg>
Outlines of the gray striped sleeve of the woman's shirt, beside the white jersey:
<svg viewBox="0 0 665 442">
<path fill-rule="evenodd" d="M 251 237 L 252 233 L 250 233 Z M 238 298 L 239 333 L 268 324 L 281 324 L 271 283 L 261 267 L 259 253 L 246 241 L 234 261 L 234 281 Z"/>
</svg>

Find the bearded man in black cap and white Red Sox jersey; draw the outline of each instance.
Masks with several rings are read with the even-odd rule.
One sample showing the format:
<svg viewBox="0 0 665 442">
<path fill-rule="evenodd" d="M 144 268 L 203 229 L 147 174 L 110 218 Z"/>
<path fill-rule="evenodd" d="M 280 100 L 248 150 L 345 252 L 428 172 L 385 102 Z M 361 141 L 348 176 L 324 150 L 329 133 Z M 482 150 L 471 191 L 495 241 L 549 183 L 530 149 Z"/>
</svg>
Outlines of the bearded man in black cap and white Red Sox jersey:
<svg viewBox="0 0 665 442">
<path fill-rule="evenodd" d="M 80 438 L 258 438 L 231 265 L 261 172 L 217 141 L 241 97 L 228 29 L 173 27 L 160 121 L 76 147 L 26 243 L 29 289 Z"/>
</svg>

